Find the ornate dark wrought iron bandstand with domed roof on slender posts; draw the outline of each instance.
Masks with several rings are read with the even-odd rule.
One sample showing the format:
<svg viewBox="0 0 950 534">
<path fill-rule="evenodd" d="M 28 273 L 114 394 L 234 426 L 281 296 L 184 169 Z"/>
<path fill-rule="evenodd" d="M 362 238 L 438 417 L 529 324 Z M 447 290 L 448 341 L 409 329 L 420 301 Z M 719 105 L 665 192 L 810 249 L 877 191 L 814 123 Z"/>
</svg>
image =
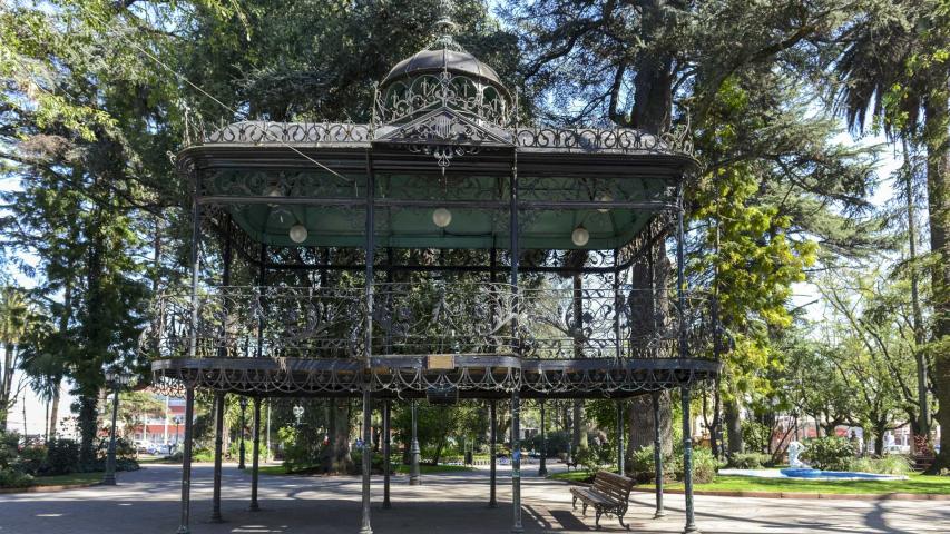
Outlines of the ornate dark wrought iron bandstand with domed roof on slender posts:
<svg viewBox="0 0 950 534">
<path fill-rule="evenodd" d="M 189 532 L 196 389 L 254 400 L 252 510 L 262 398 L 361 397 L 365 443 L 374 402 L 388 428 L 391 402 L 481 398 L 492 451 L 497 402 L 510 399 L 520 532 L 522 398 L 653 395 L 658 418 L 657 394 L 679 388 L 695 530 L 689 394 L 721 365 L 709 303 L 685 288 L 687 131 L 521 126 L 517 97 L 448 20 L 440 28 L 378 86 L 368 125 L 197 128 L 178 154 L 194 186 L 192 286 L 158 298 L 143 343 L 157 387 L 186 398 L 178 532 Z M 233 284 L 235 261 L 255 283 Z M 329 284 L 329 273 L 347 276 Z M 389 473 L 384 485 L 388 506 Z"/>
</svg>

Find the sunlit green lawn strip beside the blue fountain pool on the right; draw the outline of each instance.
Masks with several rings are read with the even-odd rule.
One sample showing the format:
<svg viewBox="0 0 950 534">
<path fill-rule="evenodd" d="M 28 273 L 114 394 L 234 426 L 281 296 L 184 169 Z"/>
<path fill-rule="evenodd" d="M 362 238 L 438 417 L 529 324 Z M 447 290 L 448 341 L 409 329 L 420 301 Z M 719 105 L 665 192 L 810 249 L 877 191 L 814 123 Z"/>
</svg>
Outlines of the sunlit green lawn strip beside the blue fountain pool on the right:
<svg viewBox="0 0 950 534">
<path fill-rule="evenodd" d="M 582 471 L 558 473 L 557 481 L 584 482 Z M 652 486 L 652 485 L 650 485 Z M 639 487 L 646 487 L 640 485 Z M 683 490 L 682 483 L 666 484 L 667 490 Z M 696 491 L 709 492 L 794 492 L 794 493 L 936 493 L 950 495 L 950 476 L 910 475 L 907 481 L 795 481 L 789 478 L 754 478 L 751 476 L 717 476 L 712 484 L 696 484 Z"/>
</svg>

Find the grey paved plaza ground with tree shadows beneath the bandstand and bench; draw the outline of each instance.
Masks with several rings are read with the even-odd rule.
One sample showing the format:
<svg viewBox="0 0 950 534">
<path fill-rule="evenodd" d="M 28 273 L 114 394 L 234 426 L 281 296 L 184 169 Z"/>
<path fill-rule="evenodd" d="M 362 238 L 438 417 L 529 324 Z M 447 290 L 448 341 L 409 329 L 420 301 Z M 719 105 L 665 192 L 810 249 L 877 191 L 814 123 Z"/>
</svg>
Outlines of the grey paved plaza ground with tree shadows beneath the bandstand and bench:
<svg viewBox="0 0 950 534">
<path fill-rule="evenodd" d="M 533 471 L 533 468 L 529 467 Z M 0 534 L 173 534 L 178 526 L 180 468 L 148 465 L 119 474 L 115 487 L 0 495 Z M 506 533 L 511 525 L 510 486 L 499 471 L 499 507 L 486 506 L 488 473 L 428 475 L 422 486 L 393 478 L 392 510 L 381 510 L 382 479 L 373 479 L 373 528 L 388 533 Z M 212 524 L 212 467 L 196 465 L 192 532 L 346 533 L 360 518 L 359 477 L 262 476 L 261 506 L 247 512 L 251 477 L 224 471 L 225 523 Z M 522 483 L 526 532 L 591 532 L 594 517 L 572 512 L 568 485 L 528 476 Z M 652 494 L 635 493 L 627 515 L 630 532 L 678 533 L 683 496 L 667 495 L 667 516 L 654 520 Z M 919 533 L 950 532 L 950 503 L 940 501 L 819 501 L 696 497 L 704 533 Z M 615 518 L 603 532 L 626 532 Z"/>
</svg>

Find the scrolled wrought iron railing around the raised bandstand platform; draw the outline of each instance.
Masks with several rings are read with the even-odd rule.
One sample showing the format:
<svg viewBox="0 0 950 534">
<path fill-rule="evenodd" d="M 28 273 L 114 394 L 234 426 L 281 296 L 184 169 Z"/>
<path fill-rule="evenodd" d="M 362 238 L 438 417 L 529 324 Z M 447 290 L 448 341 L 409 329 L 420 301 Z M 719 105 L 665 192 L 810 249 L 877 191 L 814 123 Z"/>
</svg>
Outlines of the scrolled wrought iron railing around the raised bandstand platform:
<svg viewBox="0 0 950 534">
<path fill-rule="evenodd" d="M 691 293 L 620 286 L 540 287 L 428 280 L 363 287 L 207 287 L 196 296 L 195 357 L 353 357 L 365 354 L 493 354 L 523 358 L 679 357 L 680 318 L 689 357 L 712 355 L 712 314 Z M 192 297 L 166 291 L 141 347 L 153 357 L 189 354 Z"/>
</svg>

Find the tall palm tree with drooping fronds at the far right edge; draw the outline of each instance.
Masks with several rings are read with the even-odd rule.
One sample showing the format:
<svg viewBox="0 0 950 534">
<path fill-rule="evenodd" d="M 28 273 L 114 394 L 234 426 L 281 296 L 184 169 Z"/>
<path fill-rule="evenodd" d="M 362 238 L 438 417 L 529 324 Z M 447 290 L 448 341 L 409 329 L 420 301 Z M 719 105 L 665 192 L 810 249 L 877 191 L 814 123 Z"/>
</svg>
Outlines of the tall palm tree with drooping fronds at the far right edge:
<svg viewBox="0 0 950 534">
<path fill-rule="evenodd" d="M 869 7 L 841 36 L 844 48 L 833 61 L 836 109 L 852 129 L 863 131 L 870 113 L 892 140 L 925 148 L 934 318 L 929 352 L 938 419 L 950 428 L 950 62 L 941 59 L 950 48 L 950 10 L 937 0 Z M 922 358 L 919 366 L 923 374 Z M 923 414 L 927 398 L 920 397 Z M 925 431 L 928 424 L 915 426 Z M 950 433 L 941 441 L 934 471 L 950 466 Z"/>
</svg>

